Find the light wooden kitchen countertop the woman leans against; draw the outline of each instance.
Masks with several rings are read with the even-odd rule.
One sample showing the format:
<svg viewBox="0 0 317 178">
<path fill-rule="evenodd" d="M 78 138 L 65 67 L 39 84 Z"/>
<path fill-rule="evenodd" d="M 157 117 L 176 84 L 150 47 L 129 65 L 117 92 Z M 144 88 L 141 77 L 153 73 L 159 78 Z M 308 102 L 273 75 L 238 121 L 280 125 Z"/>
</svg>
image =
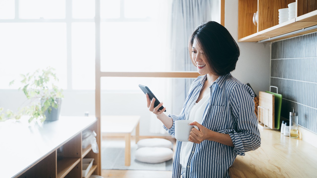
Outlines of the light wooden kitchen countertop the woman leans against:
<svg viewBox="0 0 317 178">
<path fill-rule="evenodd" d="M 261 147 L 237 156 L 229 168 L 231 178 L 298 178 L 317 176 L 317 148 L 286 137 L 278 130 L 260 129 Z"/>
</svg>

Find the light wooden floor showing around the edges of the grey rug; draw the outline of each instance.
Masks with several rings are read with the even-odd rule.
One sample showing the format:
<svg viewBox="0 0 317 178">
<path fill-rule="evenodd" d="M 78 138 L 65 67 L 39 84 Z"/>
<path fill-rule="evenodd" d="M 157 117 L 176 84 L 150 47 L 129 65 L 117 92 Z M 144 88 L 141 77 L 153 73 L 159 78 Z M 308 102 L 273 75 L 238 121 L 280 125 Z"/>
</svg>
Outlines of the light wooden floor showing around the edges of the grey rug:
<svg viewBox="0 0 317 178">
<path fill-rule="evenodd" d="M 140 139 L 145 139 L 149 137 L 142 137 L 140 136 Z M 176 140 L 174 138 L 170 137 L 164 137 L 165 139 L 170 140 L 175 150 L 175 143 Z M 103 137 L 103 139 L 122 139 L 120 137 Z M 134 138 L 132 138 L 133 140 Z M 101 176 L 106 178 L 171 178 L 172 177 L 172 171 L 149 171 L 149 170 L 115 170 L 115 169 L 102 169 L 101 170 Z"/>
</svg>

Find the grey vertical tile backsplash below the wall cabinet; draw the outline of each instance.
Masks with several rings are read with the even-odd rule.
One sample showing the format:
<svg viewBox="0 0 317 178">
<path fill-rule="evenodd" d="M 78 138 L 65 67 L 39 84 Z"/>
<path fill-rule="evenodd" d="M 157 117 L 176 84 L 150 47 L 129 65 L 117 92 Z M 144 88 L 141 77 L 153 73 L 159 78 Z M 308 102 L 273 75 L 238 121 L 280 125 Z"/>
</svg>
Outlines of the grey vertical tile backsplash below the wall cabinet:
<svg viewBox="0 0 317 178">
<path fill-rule="evenodd" d="M 294 107 L 299 124 L 317 133 L 317 33 L 272 42 L 270 79 L 282 94 L 281 116 Z"/>
</svg>

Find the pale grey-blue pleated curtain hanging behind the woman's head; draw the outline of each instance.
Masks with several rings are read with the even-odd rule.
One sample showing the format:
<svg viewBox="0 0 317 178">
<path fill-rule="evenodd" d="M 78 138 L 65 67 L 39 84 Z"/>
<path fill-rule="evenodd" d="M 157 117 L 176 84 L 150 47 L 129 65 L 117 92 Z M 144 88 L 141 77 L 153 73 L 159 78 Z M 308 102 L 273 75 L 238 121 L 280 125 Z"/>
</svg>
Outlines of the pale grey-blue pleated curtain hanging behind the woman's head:
<svg viewBox="0 0 317 178">
<path fill-rule="evenodd" d="M 220 22 L 219 0 L 173 0 L 171 56 L 174 71 L 197 71 L 188 52 L 192 32 L 204 21 Z M 191 82 L 194 79 L 173 79 L 172 112 L 182 110 Z"/>
</svg>

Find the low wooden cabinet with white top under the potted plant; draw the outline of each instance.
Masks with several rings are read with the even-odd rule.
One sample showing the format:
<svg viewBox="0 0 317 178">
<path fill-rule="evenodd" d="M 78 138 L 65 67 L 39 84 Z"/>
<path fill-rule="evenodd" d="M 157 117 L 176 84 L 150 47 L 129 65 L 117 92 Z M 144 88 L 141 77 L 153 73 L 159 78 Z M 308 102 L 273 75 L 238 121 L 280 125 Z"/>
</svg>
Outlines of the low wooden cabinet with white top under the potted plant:
<svg viewBox="0 0 317 178">
<path fill-rule="evenodd" d="M 97 131 L 97 128 L 94 117 L 61 117 L 58 121 L 33 126 L 27 121 L 0 123 L 1 136 L 18 133 L 7 134 L 7 139 L 2 140 L 1 177 L 79 178 L 83 158 L 94 158 L 86 177 L 97 175 L 98 168 L 101 169 L 100 154 L 94 153 L 91 145 L 82 149 L 83 131 Z"/>
</svg>

